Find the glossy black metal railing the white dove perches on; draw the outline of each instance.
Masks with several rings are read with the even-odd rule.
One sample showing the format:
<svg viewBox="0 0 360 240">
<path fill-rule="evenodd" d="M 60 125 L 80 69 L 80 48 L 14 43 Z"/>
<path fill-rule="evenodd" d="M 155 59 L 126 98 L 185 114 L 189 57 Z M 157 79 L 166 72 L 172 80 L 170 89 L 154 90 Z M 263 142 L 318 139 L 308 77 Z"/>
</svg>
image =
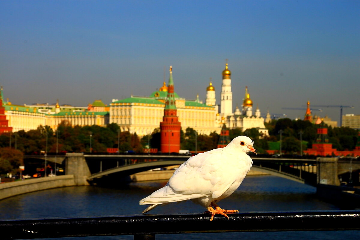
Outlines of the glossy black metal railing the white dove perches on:
<svg viewBox="0 0 360 240">
<path fill-rule="evenodd" d="M 360 210 L 250 212 L 229 214 L 229 217 L 228 220 L 216 216 L 210 221 L 207 214 L 146 214 L 1 220 L 0 239 L 115 235 L 134 235 L 134 239 L 155 239 L 156 234 L 360 230 Z"/>
</svg>

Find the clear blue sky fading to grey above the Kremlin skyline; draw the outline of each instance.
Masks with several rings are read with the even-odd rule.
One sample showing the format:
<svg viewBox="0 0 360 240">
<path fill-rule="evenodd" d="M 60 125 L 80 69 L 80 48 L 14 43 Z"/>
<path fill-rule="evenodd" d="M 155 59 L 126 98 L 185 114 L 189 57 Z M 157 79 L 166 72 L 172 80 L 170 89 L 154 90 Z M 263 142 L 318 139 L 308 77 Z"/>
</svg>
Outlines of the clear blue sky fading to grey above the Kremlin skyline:
<svg viewBox="0 0 360 240">
<path fill-rule="evenodd" d="M 13 104 L 105 104 L 175 91 L 233 107 L 248 86 L 262 115 L 311 104 L 360 114 L 360 1 L 0 1 L 0 84 Z M 339 121 L 338 108 L 313 112 Z"/>
</svg>

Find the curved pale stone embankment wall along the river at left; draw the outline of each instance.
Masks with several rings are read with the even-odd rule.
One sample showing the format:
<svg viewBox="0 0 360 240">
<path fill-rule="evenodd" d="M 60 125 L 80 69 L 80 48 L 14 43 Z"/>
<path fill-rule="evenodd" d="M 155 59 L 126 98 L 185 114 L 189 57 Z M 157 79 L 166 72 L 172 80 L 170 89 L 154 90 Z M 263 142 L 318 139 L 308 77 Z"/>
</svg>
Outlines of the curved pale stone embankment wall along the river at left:
<svg viewBox="0 0 360 240">
<path fill-rule="evenodd" d="M 0 200 L 45 189 L 76 186 L 74 175 L 32 178 L 0 184 Z"/>
</svg>

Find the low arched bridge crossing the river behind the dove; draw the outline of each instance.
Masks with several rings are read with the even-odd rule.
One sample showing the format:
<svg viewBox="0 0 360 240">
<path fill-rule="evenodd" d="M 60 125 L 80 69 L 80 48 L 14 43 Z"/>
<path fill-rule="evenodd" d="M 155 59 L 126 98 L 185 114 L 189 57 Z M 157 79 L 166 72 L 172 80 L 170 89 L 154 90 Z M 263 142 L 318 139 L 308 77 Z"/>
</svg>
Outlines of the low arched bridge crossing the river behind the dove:
<svg viewBox="0 0 360 240">
<path fill-rule="evenodd" d="M 24 156 L 44 159 L 44 156 Z M 77 185 L 118 180 L 134 173 L 184 163 L 184 155 L 107 155 L 67 153 L 47 156 L 48 161 L 65 163 L 66 174 L 74 175 Z M 256 158 L 253 168 L 271 175 L 316 186 L 339 186 L 343 182 L 359 183 L 360 160 L 339 158 L 283 159 Z M 351 173 L 351 174 L 350 174 Z"/>
</svg>

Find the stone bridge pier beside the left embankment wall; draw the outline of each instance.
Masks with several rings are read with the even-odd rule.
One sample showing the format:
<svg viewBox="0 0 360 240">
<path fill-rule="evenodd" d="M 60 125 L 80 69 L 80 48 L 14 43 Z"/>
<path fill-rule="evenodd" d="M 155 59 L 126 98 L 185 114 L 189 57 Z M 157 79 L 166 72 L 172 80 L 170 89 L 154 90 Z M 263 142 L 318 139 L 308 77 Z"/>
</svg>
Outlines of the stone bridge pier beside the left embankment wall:
<svg viewBox="0 0 360 240">
<path fill-rule="evenodd" d="M 66 153 L 66 175 L 74 175 L 77 186 L 89 185 L 87 177 L 91 175 L 84 153 Z"/>
</svg>

